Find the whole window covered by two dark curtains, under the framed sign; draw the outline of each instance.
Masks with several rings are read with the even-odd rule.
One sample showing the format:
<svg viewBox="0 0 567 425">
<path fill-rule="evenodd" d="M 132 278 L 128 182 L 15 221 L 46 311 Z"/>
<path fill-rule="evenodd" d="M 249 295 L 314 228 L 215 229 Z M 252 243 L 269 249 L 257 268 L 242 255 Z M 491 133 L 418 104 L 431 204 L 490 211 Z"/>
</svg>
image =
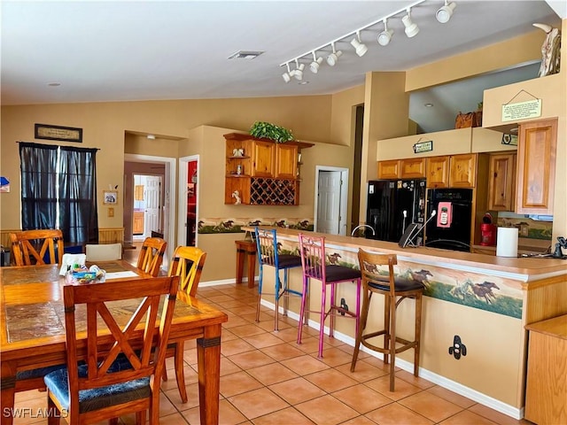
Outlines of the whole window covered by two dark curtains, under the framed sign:
<svg viewBox="0 0 567 425">
<path fill-rule="evenodd" d="M 22 229 L 60 228 L 97 243 L 97 149 L 19 143 Z"/>
</svg>

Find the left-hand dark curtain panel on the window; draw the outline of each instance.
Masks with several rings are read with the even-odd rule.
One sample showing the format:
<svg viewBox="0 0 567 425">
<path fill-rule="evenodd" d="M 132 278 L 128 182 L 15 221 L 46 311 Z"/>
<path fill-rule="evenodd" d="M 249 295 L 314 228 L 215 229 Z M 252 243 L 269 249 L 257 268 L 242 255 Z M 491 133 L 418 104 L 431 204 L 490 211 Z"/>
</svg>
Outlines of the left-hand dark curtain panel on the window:
<svg viewBox="0 0 567 425">
<path fill-rule="evenodd" d="M 57 224 L 57 149 L 39 143 L 19 143 L 21 228 L 55 228 Z"/>
</svg>

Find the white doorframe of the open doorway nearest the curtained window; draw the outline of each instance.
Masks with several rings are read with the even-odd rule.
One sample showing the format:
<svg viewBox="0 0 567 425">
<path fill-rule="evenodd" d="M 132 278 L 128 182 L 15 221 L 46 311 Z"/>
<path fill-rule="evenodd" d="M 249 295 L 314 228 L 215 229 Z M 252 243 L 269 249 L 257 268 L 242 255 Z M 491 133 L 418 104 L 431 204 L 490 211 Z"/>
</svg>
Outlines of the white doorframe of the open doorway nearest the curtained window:
<svg viewBox="0 0 567 425">
<path fill-rule="evenodd" d="M 164 164 L 166 171 L 164 174 L 163 193 L 164 205 L 162 209 L 163 214 L 163 227 L 164 235 L 167 235 L 167 241 L 174 241 L 174 243 L 167 243 L 167 255 L 163 259 L 162 268 L 168 267 L 169 260 L 172 259 L 175 250 L 175 212 L 176 212 L 176 197 L 172 197 L 172 193 L 176 193 L 176 180 L 177 173 L 177 158 L 168 157 L 154 157 L 151 155 L 140 155 L 137 153 L 125 153 L 125 162 L 151 162 L 153 164 Z M 126 188 L 125 188 L 126 190 Z"/>
</svg>

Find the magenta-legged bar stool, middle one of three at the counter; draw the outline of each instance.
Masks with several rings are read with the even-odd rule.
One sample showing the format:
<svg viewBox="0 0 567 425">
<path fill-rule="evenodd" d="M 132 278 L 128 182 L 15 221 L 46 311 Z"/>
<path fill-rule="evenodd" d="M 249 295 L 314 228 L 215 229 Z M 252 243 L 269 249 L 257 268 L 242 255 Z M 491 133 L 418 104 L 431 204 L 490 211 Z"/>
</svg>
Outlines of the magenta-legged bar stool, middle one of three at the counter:
<svg viewBox="0 0 567 425">
<path fill-rule="evenodd" d="M 351 267 L 336 264 L 326 264 L 325 238 L 318 236 L 306 236 L 299 233 L 299 252 L 301 253 L 301 264 L 303 267 L 303 297 L 299 310 L 298 344 L 301 344 L 301 334 L 303 331 L 304 315 L 308 313 L 320 314 L 319 328 L 319 354 L 322 358 L 322 340 L 325 330 L 325 320 L 330 316 L 329 336 L 333 337 L 335 319 L 337 315 L 353 318 L 355 324 L 355 335 L 359 331 L 359 312 L 361 311 L 361 272 Z M 321 281 L 321 310 L 311 311 L 307 308 L 307 285 L 311 279 Z M 349 311 L 344 305 L 337 305 L 335 292 L 338 283 L 356 281 L 356 310 Z M 327 285 L 330 285 L 330 305 L 327 309 Z"/>
</svg>

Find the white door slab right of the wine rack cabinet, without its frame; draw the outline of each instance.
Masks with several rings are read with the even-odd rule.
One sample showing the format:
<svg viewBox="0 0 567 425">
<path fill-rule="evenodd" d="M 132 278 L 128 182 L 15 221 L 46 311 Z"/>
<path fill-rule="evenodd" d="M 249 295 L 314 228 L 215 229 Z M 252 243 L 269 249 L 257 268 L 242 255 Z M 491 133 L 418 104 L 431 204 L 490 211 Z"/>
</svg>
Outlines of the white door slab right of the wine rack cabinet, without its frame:
<svg viewBox="0 0 567 425">
<path fill-rule="evenodd" d="M 341 173 L 321 171 L 318 187 L 317 232 L 338 235 L 340 233 Z"/>
</svg>

